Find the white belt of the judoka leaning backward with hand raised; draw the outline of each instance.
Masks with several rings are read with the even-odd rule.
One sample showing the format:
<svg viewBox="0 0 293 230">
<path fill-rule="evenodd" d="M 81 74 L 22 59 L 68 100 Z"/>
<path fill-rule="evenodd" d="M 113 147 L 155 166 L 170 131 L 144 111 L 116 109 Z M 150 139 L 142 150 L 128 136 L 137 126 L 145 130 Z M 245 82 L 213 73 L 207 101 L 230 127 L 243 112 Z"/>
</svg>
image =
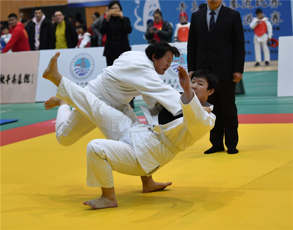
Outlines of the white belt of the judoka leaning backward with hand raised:
<svg viewBox="0 0 293 230">
<path fill-rule="evenodd" d="M 147 122 L 149 123 L 148 128 L 156 134 L 159 139 L 171 150 L 175 155 L 180 151 L 176 148 L 176 146 L 168 139 L 168 137 L 162 132 L 161 127 L 155 124 L 153 117 L 151 116 L 147 106 L 140 106 L 142 112 L 144 113 Z"/>
</svg>

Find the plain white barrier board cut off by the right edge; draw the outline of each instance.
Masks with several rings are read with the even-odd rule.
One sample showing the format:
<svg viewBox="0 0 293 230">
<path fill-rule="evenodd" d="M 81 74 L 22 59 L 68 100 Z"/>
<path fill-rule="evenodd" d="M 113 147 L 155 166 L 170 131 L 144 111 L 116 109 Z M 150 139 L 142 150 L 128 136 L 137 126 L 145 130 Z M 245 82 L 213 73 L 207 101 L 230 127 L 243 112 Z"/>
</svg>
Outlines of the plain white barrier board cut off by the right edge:
<svg viewBox="0 0 293 230">
<path fill-rule="evenodd" d="M 278 97 L 293 96 L 293 36 L 279 37 Z"/>
</svg>

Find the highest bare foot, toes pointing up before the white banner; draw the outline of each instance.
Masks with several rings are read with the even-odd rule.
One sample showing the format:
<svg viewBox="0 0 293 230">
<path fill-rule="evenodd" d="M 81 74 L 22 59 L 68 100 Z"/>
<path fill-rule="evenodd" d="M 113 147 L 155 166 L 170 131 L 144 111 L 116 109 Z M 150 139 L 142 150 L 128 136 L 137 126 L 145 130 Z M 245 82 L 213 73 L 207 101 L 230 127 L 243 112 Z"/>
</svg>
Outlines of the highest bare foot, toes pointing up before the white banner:
<svg viewBox="0 0 293 230">
<path fill-rule="evenodd" d="M 59 57 L 60 52 L 55 53 L 55 55 L 51 58 L 48 67 L 45 69 L 43 73 L 43 78 L 50 80 L 57 87 L 62 79 L 62 75 L 58 71 L 57 67 L 57 58 Z"/>
</svg>

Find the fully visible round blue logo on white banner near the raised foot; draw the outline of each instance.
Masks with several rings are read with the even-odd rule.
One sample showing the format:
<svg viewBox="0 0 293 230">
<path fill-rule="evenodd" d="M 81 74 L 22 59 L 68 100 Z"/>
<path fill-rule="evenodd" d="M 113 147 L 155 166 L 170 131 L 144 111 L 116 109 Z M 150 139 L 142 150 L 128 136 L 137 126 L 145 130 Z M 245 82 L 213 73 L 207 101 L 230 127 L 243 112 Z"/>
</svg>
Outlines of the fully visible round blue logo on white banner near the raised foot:
<svg viewBox="0 0 293 230">
<path fill-rule="evenodd" d="M 80 53 L 72 59 L 69 69 L 72 77 L 84 80 L 91 75 L 94 67 L 93 58 L 86 53 Z"/>
</svg>

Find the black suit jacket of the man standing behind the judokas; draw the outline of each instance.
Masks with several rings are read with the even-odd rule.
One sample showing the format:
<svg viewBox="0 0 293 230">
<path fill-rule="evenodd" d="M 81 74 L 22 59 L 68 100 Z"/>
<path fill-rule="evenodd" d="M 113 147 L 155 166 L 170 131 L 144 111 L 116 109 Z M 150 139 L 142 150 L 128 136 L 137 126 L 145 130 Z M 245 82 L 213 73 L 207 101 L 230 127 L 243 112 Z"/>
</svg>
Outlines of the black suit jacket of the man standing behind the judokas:
<svg viewBox="0 0 293 230">
<path fill-rule="evenodd" d="M 240 13 L 221 6 L 214 29 L 207 26 L 207 6 L 191 16 L 187 43 L 188 72 L 208 69 L 220 80 L 233 79 L 233 72 L 243 73 L 244 32 Z"/>
</svg>

